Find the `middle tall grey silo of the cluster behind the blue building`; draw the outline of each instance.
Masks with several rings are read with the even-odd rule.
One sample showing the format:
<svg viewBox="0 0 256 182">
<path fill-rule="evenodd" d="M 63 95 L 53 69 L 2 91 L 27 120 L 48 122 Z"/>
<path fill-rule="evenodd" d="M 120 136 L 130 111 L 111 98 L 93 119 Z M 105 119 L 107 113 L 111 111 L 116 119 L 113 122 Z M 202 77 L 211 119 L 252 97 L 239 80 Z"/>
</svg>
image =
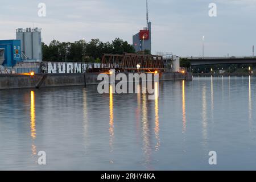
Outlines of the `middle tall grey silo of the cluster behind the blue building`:
<svg viewBox="0 0 256 182">
<path fill-rule="evenodd" d="M 26 28 L 24 32 L 24 51 L 27 59 L 33 59 L 33 47 L 32 47 L 32 30 Z"/>
</svg>

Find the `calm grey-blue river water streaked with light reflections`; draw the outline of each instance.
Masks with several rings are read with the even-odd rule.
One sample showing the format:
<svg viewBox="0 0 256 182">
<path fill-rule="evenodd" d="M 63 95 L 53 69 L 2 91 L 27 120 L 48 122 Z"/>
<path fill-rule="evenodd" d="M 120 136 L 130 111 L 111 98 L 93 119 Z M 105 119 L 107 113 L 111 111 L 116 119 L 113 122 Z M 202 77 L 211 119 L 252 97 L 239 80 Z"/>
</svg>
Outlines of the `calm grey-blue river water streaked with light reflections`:
<svg viewBox="0 0 256 182">
<path fill-rule="evenodd" d="M 160 82 L 157 100 L 97 86 L 1 90 L 0 169 L 255 170 L 255 86 L 194 77 Z"/>
</svg>

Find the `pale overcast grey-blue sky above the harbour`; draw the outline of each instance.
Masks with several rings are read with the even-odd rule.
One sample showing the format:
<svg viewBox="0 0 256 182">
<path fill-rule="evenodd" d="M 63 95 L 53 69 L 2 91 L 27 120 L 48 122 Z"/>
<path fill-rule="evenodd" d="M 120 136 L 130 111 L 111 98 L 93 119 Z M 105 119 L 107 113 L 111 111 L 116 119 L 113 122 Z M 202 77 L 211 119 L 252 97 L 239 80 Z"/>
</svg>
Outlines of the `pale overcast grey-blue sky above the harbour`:
<svg viewBox="0 0 256 182">
<path fill-rule="evenodd" d="M 46 17 L 38 4 L 46 4 Z M 252 55 L 256 46 L 256 0 L 148 0 L 152 22 L 152 53 L 179 56 Z M 210 18 L 209 3 L 217 17 Z M 42 28 L 47 44 L 53 39 L 74 42 L 99 38 L 106 42 L 132 35 L 146 26 L 146 0 L 23 0 L 1 2 L 0 39 L 15 39 L 18 27 Z"/>
</svg>

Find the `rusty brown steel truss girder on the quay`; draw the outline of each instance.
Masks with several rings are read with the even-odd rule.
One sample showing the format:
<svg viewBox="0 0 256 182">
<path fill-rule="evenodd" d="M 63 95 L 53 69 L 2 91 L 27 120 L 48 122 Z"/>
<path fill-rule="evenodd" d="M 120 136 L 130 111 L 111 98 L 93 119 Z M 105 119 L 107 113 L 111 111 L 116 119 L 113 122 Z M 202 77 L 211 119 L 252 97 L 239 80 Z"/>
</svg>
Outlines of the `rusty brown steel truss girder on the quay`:
<svg viewBox="0 0 256 182">
<path fill-rule="evenodd" d="M 139 55 L 136 53 L 124 53 L 123 55 L 104 54 L 101 68 L 137 70 L 137 65 L 144 70 L 164 70 L 163 56 Z"/>
</svg>

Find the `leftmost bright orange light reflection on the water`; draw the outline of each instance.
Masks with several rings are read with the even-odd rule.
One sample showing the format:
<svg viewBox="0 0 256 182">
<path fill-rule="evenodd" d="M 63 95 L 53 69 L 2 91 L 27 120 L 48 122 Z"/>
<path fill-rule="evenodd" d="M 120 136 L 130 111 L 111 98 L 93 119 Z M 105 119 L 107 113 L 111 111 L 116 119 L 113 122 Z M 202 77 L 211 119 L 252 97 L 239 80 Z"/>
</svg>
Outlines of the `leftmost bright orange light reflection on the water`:
<svg viewBox="0 0 256 182">
<path fill-rule="evenodd" d="M 32 155 L 36 155 L 36 146 L 34 140 L 36 139 L 36 120 L 35 120 L 35 92 L 30 92 L 30 136 L 32 138 Z"/>
</svg>

